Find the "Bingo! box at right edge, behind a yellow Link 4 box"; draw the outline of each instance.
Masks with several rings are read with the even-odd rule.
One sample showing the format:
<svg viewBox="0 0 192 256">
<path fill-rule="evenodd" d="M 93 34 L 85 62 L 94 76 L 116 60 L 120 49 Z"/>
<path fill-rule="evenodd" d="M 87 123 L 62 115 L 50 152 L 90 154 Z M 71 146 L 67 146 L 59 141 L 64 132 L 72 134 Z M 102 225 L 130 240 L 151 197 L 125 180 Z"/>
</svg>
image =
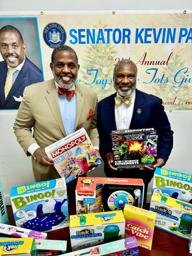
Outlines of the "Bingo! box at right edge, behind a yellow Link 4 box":
<svg viewBox="0 0 192 256">
<path fill-rule="evenodd" d="M 153 179 L 153 192 L 192 204 L 192 176 L 157 167 Z"/>
</svg>

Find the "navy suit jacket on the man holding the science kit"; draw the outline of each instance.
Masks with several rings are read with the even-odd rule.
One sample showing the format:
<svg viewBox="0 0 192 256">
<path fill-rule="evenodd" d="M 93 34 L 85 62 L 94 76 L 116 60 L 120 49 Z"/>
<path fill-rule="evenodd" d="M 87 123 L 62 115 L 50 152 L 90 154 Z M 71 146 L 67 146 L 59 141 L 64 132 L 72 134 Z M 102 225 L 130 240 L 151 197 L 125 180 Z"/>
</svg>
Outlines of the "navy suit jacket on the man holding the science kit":
<svg viewBox="0 0 192 256">
<path fill-rule="evenodd" d="M 115 102 L 116 93 L 98 103 L 97 127 L 99 132 L 99 152 L 103 161 L 112 152 L 110 132 L 116 130 Z M 140 109 L 141 113 L 137 113 Z M 173 148 L 173 131 L 162 105 L 162 99 L 136 89 L 133 116 L 129 129 L 152 128 L 157 130 L 157 158 L 165 161 Z"/>
</svg>

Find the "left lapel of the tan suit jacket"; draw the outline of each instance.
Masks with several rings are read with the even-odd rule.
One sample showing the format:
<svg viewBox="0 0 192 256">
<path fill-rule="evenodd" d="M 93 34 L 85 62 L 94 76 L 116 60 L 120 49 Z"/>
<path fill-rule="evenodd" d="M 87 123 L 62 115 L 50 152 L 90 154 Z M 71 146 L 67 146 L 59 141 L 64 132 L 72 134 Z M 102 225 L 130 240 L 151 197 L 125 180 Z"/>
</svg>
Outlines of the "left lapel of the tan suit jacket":
<svg viewBox="0 0 192 256">
<path fill-rule="evenodd" d="M 62 117 L 61 117 L 61 113 L 60 113 L 59 102 L 58 102 L 58 98 L 57 98 L 54 79 L 49 81 L 47 93 L 48 93 L 48 95 L 46 95 L 45 98 L 49 104 L 49 107 L 53 113 L 53 116 L 54 116 L 57 124 L 59 125 L 59 128 L 61 129 L 61 132 L 66 137 L 67 135 L 66 135 L 66 132 L 64 129 L 64 125 L 63 125 L 63 121 L 62 121 Z"/>
</svg>

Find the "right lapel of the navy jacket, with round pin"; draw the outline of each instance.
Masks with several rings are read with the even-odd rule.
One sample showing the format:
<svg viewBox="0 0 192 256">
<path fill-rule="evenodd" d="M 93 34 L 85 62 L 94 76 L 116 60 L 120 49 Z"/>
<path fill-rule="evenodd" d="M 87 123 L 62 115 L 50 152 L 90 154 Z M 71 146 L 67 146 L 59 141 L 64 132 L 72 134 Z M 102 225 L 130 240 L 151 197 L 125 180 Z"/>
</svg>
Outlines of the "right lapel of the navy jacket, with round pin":
<svg viewBox="0 0 192 256">
<path fill-rule="evenodd" d="M 137 129 L 137 127 L 140 127 L 140 124 L 142 122 L 143 118 L 143 108 L 144 108 L 144 101 L 142 94 L 138 89 L 135 89 L 135 103 L 134 103 L 134 108 L 133 108 L 133 116 L 131 118 L 131 124 L 129 129 Z"/>
</svg>

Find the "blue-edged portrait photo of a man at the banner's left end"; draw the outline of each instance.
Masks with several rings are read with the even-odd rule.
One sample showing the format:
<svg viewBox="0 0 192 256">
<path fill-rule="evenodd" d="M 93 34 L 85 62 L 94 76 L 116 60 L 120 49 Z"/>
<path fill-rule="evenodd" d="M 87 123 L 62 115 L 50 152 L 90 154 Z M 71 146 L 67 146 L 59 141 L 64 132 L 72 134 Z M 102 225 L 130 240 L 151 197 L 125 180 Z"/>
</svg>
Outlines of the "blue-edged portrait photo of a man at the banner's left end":
<svg viewBox="0 0 192 256">
<path fill-rule="evenodd" d="M 43 80 L 37 19 L 0 19 L 0 110 L 18 109 L 25 87 Z"/>
</svg>

